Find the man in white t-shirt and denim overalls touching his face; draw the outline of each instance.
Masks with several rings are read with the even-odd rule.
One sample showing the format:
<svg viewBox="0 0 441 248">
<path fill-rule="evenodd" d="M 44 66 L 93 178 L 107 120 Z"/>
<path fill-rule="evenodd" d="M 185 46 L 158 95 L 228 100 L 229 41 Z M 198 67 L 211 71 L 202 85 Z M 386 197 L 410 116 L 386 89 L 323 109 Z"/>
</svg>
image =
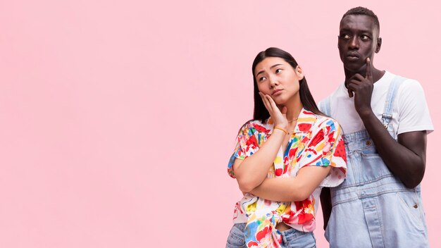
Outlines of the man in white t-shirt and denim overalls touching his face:
<svg viewBox="0 0 441 248">
<path fill-rule="evenodd" d="M 330 247 L 428 247 L 419 184 L 433 125 L 416 80 L 373 66 L 379 32 L 371 10 L 344 14 L 344 84 L 319 104 L 342 125 L 347 152 L 347 179 L 321 196 Z"/>
</svg>

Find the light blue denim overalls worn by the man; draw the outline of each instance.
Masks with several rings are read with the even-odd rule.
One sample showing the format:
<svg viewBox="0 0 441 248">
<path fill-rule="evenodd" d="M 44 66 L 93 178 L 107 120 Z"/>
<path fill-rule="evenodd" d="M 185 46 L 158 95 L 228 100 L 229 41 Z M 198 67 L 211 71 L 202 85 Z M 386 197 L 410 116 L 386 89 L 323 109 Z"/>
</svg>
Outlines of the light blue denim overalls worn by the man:
<svg viewBox="0 0 441 248">
<path fill-rule="evenodd" d="M 395 94 L 404 80 L 399 76 L 392 80 L 382 116 L 395 140 L 396 130 L 389 124 Z M 321 106 L 329 116 L 330 98 Z M 325 230 L 330 247 L 428 247 L 420 185 L 406 188 L 392 175 L 366 130 L 344 134 L 344 144 L 347 179 L 330 189 L 333 210 Z"/>
</svg>

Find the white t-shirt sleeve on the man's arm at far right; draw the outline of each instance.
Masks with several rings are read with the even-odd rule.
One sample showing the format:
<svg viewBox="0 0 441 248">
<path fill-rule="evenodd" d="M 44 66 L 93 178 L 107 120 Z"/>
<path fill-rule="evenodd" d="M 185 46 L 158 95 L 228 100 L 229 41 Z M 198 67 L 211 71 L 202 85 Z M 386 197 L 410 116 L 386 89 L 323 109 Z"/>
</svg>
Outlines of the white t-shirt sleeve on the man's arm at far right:
<svg viewBox="0 0 441 248">
<path fill-rule="evenodd" d="M 421 130 L 432 132 L 433 123 L 420 83 L 416 80 L 406 80 L 397 95 L 399 111 L 397 134 Z"/>
</svg>

